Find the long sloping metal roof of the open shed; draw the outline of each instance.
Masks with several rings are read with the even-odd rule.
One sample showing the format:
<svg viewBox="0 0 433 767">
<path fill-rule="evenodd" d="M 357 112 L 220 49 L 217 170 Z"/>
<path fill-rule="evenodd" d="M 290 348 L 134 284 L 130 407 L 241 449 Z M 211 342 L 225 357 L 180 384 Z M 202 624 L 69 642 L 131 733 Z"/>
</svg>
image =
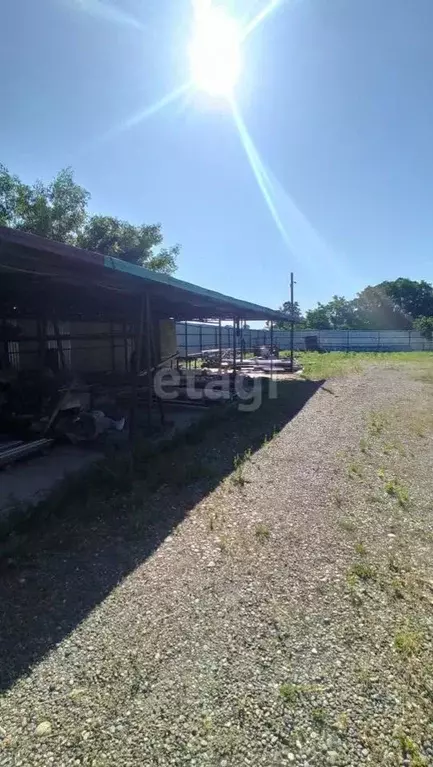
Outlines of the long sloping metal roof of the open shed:
<svg viewBox="0 0 433 767">
<path fill-rule="evenodd" d="M 274 309 L 232 298 L 119 258 L 6 227 L 0 227 L 0 273 L 0 283 L 3 282 L 5 290 L 5 275 L 15 275 L 10 286 L 14 286 L 16 294 L 20 290 L 19 275 L 28 282 L 28 296 L 43 291 L 45 286 L 43 300 L 46 300 L 48 280 L 51 285 L 86 288 L 89 300 L 90 289 L 93 295 L 96 295 L 95 289 L 102 290 L 112 299 L 113 293 L 124 299 L 128 295 L 147 292 L 156 311 L 175 319 L 283 319 L 286 322 L 288 319 L 286 314 Z"/>
</svg>

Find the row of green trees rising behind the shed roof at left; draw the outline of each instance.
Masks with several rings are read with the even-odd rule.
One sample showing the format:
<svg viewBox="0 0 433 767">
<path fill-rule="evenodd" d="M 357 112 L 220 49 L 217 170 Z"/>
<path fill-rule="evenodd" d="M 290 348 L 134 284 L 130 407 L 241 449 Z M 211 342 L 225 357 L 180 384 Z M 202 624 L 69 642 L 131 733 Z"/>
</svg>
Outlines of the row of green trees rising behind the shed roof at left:
<svg viewBox="0 0 433 767">
<path fill-rule="evenodd" d="M 116 256 L 172 274 L 179 245 L 162 247 L 160 224 L 130 224 L 115 216 L 90 215 L 89 192 L 74 180 L 71 168 L 49 183 L 25 184 L 0 164 L 0 226 L 39 234 L 58 242 Z"/>
</svg>

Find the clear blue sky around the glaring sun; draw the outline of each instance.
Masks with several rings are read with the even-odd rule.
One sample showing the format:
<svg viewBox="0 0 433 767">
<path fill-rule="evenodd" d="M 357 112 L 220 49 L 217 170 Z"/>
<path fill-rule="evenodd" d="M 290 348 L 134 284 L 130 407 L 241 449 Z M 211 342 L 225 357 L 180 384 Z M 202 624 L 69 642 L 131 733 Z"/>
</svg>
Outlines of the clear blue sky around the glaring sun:
<svg viewBox="0 0 433 767">
<path fill-rule="evenodd" d="M 239 18 L 266 0 L 221 0 Z M 2 8 L 0 162 L 72 165 L 91 208 L 160 221 L 177 276 L 269 306 L 433 280 L 432 0 L 282 0 L 248 37 L 236 103 L 277 226 L 220 100 L 188 92 L 191 0 Z M 126 127 L 125 127 L 126 126 Z"/>
</svg>

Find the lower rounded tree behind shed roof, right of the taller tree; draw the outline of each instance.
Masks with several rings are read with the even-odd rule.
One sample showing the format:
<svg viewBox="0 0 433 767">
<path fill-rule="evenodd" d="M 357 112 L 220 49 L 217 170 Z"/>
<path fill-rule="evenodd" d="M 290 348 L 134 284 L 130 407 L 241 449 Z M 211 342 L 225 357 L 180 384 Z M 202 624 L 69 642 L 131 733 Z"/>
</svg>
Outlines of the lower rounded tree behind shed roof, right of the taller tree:
<svg viewBox="0 0 433 767">
<path fill-rule="evenodd" d="M 134 226 L 114 216 L 92 216 L 78 236 L 82 248 L 171 274 L 176 270 L 180 248 L 175 245 L 156 250 L 162 241 L 160 224 Z"/>
</svg>

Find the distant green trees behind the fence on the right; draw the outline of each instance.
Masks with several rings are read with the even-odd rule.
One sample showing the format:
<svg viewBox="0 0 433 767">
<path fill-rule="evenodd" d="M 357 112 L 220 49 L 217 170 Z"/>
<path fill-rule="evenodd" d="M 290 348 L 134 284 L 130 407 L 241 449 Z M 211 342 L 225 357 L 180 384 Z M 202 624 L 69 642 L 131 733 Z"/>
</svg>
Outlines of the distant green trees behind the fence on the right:
<svg viewBox="0 0 433 767">
<path fill-rule="evenodd" d="M 280 311 L 290 315 L 290 302 Z M 297 328 L 315 330 L 420 330 L 427 338 L 433 333 L 433 286 L 421 280 L 399 277 L 397 280 L 368 286 L 351 301 L 333 296 L 327 304 L 318 303 L 302 315 L 294 305 Z M 287 329 L 280 322 L 278 328 Z"/>
</svg>

